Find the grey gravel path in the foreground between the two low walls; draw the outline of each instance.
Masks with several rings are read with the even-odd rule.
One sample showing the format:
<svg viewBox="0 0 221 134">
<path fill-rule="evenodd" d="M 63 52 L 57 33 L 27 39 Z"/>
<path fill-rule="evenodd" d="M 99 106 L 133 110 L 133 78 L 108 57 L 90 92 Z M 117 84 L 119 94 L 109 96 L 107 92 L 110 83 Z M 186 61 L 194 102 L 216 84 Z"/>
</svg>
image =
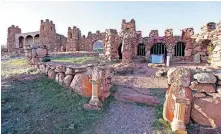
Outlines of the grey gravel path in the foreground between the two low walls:
<svg viewBox="0 0 221 134">
<path fill-rule="evenodd" d="M 154 108 L 115 101 L 94 134 L 153 134 Z"/>
</svg>

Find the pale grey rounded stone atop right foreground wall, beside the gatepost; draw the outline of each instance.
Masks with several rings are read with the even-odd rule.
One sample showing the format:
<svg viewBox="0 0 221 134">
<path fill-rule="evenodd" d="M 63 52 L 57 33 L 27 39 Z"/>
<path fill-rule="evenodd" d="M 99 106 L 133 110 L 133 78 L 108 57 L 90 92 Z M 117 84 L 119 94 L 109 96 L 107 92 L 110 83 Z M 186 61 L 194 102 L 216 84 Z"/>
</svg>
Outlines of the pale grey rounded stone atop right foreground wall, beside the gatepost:
<svg viewBox="0 0 221 134">
<path fill-rule="evenodd" d="M 197 73 L 193 78 L 199 83 L 216 83 L 216 77 L 212 73 Z"/>
</svg>

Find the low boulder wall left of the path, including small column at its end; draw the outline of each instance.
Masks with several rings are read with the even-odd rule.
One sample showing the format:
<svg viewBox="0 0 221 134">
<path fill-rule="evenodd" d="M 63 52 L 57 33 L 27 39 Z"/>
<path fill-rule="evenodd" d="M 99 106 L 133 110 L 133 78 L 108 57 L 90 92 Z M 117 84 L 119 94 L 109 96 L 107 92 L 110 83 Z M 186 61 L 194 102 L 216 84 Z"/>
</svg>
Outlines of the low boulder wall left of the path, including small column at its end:
<svg viewBox="0 0 221 134">
<path fill-rule="evenodd" d="M 35 66 L 49 79 L 54 79 L 72 92 L 81 96 L 91 97 L 89 105 L 95 105 L 96 110 L 97 108 L 98 110 L 100 109 L 97 101 L 100 103 L 110 95 L 109 91 L 112 86 L 110 71 L 104 65 L 74 66 L 39 62 Z M 97 98 L 96 104 L 94 104 L 94 98 Z M 90 103 L 92 101 L 93 103 Z M 88 108 L 88 105 L 86 108 Z M 91 109 L 91 107 L 89 108 Z"/>
</svg>

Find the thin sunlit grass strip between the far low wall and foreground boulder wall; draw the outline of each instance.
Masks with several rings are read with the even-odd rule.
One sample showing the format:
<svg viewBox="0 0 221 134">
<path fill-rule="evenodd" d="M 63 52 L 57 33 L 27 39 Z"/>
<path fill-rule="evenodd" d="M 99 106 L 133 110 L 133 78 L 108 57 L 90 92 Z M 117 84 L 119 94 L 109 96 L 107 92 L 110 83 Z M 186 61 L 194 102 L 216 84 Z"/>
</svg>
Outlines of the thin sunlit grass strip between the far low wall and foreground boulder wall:
<svg viewBox="0 0 221 134">
<path fill-rule="evenodd" d="M 84 64 L 89 61 L 96 60 L 96 57 L 56 56 L 56 57 L 51 57 L 51 60 L 56 61 L 56 62 L 70 62 L 70 63 L 75 63 L 75 64 Z"/>
</svg>

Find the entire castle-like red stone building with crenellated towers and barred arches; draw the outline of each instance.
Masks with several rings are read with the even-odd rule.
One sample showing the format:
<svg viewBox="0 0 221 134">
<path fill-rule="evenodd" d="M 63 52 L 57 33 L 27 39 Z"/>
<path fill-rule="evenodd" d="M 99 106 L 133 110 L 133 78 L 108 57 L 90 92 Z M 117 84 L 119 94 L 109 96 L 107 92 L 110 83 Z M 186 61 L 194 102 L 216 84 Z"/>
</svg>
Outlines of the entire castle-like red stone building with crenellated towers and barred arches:
<svg viewBox="0 0 221 134">
<path fill-rule="evenodd" d="M 102 45 L 97 42 L 102 42 Z M 163 55 L 164 62 L 166 57 L 170 56 L 172 63 L 207 63 L 212 53 L 208 51 L 208 46 L 211 43 L 220 44 L 220 22 L 209 22 L 201 28 L 201 33 L 196 35 L 190 27 L 181 30 L 180 35 L 173 35 L 173 29 L 166 29 L 163 36 L 159 36 L 158 30 L 151 30 L 147 37 L 143 37 L 142 32 L 136 30 L 134 19 L 129 22 L 123 19 L 119 33 L 114 29 L 107 29 L 105 32 L 88 32 L 85 36 L 81 35 L 81 30 L 76 26 L 68 27 L 67 38 L 57 34 L 55 24 L 48 19 L 41 20 L 40 31 L 37 32 L 21 33 L 21 29 L 14 25 L 8 28 L 8 51 L 38 43 L 47 46 L 49 52 L 94 51 L 95 46 L 100 46 L 109 60 L 126 58 L 131 61 L 133 58 L 145 57 L 152 62 L 153 55 Z M 215 57 L 219 57 L 220 47 L 214 47 L 217 52 L 214 51 L 210 56 L 212 63 L 219 59 L 214 61 Z"/>
</svg>

